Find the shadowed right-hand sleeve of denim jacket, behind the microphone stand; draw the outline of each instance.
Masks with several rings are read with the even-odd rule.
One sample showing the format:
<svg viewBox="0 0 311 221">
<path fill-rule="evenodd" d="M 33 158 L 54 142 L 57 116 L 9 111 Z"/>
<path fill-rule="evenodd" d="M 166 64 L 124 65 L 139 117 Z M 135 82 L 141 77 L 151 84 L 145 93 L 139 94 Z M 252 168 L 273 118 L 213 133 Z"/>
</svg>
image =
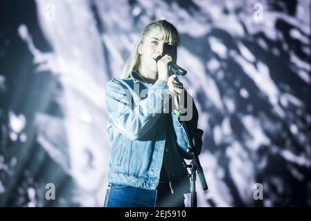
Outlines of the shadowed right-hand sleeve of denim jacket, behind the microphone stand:
<svg viewBox="0 0 311 221">
<path fill-rule="evenodd" d="M 197 155 L 199 155 L 202 150 L 203 131 L 197 128 L 197 121 L 199 119 L 199 115 L 193 97 L 186 93 L 186 99 L 190 99 L 192 101 L 192 105 L 190 107 L 187 107 L 188 110 L 186 115 L 189 116 L 181 116 L 178 118 L 176 115 L 173 115 L 173 126 L 177 137 L 177 144 L 181 151 L 181 155 L 184 158 L 191 160 L 192 155 L 190 153 L 187 153 L 187 148 L 188 146 L 190 147 L 190 144 L 188 143 L 186 131 L 184 126 L 181 124 L 181 120 L 184 120 L 184 123 L 186 124 L 190 140 L 192 140 L 193 142 L 193 146 L 195 147 Z"/>
</svg>

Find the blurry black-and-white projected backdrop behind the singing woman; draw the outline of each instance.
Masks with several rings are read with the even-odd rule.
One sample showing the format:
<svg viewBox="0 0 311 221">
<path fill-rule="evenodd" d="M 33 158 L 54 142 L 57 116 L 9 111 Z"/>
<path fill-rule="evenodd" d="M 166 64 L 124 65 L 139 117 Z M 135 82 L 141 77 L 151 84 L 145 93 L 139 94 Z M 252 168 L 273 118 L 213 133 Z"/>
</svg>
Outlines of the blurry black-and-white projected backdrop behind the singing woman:
<svg viewBox="0 0 311 221">
<path fill-rule="evenodd" d="M 310 0 L 1 1 L 0 206 L 103 206 L 105 83 L 161 18 L 204 130 L 198 206 L 311 206 Z"/>
</svg>

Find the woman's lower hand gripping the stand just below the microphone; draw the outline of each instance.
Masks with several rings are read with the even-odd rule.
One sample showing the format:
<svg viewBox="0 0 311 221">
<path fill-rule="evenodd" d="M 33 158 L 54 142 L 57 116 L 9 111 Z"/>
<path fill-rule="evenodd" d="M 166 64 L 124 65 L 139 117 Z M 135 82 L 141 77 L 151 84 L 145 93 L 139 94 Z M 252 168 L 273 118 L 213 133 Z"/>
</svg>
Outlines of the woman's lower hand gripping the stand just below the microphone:
<svg viewBox="0 0 311 221">
<path fill-rule="evenodd" d="M 168 77 L 168 90 L 170 90 L 170 93 L 172 94 L 173 113 L 175 113 L 175 111 L 181 111 L 179 110 L 179 103 L 181 101 L 184 101 L 181 99 L 181 95 L 184 95 L 185 89 L 176 75 L 171 75 L 170 77 Z"/>
</svg>

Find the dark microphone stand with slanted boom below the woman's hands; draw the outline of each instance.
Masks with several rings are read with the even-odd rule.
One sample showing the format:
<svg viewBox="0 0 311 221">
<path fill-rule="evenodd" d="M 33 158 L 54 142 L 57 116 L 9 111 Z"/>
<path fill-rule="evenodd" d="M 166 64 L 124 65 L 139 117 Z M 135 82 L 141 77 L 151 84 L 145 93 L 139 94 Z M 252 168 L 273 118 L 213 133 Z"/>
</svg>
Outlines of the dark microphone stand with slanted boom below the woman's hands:
<svg viewBox="0 0 311 221">
<path fill-rule="evenodd" d="M 199 175 L 199 181 L 201 182 L 202 188 L 204 191 L 208 189 L 208 186 L 206 184 L 204 172 L 202 169 L 202 166 L 199 162 L 199 157 L 197 156 L 197 151 L 195 147 L 193 146 L 193 142 L 190 139 L 189 133 L 188 133 L 188 128 L 186 125 L 186 122 L 181 121 L 181 125 L 184 127 L 188 139 L 188 153 L 191 153 L 193 155 L 193 160 L 190 162 L 190 164 L 186 164 L 184 162 L 184 166 L 187 168 L 190 168 L 190 174 L 188 174 L 188 177 L 190 178 L 190 194 L 191 194 L 191 202 L 190 202 L 190 207 L 197 207 L 197 192 L 195 191 L 195 180 L 197 180 L 197 174 Z"/>
</svg>

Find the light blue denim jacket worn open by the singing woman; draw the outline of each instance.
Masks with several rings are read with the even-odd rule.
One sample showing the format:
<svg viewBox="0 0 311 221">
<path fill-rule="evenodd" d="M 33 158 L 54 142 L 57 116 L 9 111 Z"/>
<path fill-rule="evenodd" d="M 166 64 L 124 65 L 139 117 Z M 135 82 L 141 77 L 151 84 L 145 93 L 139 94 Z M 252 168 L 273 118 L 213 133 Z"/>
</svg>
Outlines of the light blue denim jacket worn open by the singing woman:
<svg viewBox="0 0 311 221">
<path fill-rule="evenodd" d="M 183 157 L 191 156 L 186 152 L 188 141 L 179 119 L 171 112 L 163 113 L 169 96 L 165 81 L 148 84 L 136 71 L 127 79 L 107 82 L 107 133 L 112 145 L 107 182 L 156 189 L 162 163 L 172 189 L 185 180 Z M 197 146 L 194 103 L 192 111 L 193 117 L 186 124 Z"/>
</svg>

